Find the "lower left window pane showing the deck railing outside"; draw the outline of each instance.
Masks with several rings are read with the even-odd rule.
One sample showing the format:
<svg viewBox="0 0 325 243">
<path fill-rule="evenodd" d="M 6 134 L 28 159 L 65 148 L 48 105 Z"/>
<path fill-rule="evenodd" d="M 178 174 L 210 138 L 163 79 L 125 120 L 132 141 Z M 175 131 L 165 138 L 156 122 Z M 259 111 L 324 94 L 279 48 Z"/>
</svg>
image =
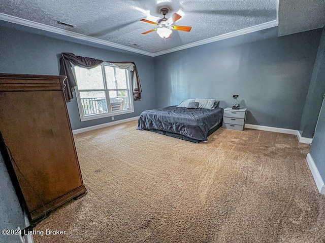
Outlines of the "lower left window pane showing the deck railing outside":
<svg viewBox="0 0 325 243">
<path fill-rule="evenodd" d="M 107 103 L 104 91 L 80 92 L 80 100 L 85 116 L 107 113 Z"/>
</svg>

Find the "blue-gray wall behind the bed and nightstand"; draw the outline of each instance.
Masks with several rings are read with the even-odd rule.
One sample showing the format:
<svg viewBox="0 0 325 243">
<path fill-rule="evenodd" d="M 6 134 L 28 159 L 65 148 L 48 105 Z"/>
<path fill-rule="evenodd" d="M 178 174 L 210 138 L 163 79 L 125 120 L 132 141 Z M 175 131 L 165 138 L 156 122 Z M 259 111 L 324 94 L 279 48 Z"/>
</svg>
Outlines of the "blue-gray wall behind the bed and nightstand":
<svg viewBox="0 0 325 243">
<path fill-rule="evenodd" d="M 155 57 L 156 106 L 239 94 L 246 123 L 299 130 L 321 29 L 278 37 L 277 27 Z"/>
</svg>

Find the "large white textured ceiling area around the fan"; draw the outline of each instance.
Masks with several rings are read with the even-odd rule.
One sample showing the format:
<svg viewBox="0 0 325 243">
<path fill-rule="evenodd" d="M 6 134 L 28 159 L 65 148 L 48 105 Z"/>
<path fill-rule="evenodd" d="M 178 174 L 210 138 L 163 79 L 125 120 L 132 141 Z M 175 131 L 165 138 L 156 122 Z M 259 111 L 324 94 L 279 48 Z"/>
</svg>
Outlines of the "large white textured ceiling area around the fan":
<svg viewBox="0 0 325 243">
<path fill-rule="evenodd" d="M 170 10 L 167 18 L 177 12 L 182 18 L 175 24 L 191 26 L 191 31 L 174 30 L 166 43 L 156 32 L 141 34 L 155 25 L 139 20 L 157 21 L 163 17 L 159 13 L 163 7 Z M 277 1 L 0 0 L 0 13 L 154 54 L 276 21 Z"/>
</svg>

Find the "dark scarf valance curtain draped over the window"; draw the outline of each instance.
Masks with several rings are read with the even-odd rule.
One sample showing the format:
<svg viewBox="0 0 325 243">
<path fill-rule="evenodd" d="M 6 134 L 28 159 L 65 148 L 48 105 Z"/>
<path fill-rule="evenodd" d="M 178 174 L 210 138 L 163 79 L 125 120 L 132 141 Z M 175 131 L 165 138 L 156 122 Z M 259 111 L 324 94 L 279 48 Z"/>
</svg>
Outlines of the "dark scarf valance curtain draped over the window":
<svg viewBox="0 0 325 243">
<path fill-rule="evenodd" d="M 70 102 L 73 99 L 73 91 L 77 86 L 76 78 L 72 71 L 72 65 L 84 67 L 84 68 L 93 68 L 98 65 L 101 65 L 103 62 L 113 65 L 121 69 L 127 69 L 132 74 L 132 86 L 133 86 L 133 96 L 134 100 L 141 99 L 141 85 L 138 74 L 137 66 L 134 62 L 110 62 L 102 61 L 99 59 L 76 56 L 73 53 L 61 53 L 60 57 L 60 75 L 67 76 L 66 89 L 64 89 L 64 94 L 66 95 L 67 102 Z"/>
</svg>

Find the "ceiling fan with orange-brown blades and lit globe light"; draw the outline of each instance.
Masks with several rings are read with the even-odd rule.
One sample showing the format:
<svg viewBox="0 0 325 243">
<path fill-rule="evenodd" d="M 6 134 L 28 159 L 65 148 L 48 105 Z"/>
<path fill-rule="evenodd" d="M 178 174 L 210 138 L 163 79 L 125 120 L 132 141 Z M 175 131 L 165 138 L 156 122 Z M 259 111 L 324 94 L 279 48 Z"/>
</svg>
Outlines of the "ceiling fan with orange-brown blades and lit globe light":
<svg viewBox="0 0 325 243">
<path fill-rule="evenodd" d="M 173 23 L 176 22 L 177 20 L 179 20 L 180 18 L 182 18 L 182 16 L 180 16 L 177 13 L 174 13 L 169 19 L 167 19 L 165 17 L 165 15 L 168 14 L 168 12 L 169 12 L 169 10 L 166 8 L 160 9 L 160 13 L 163 14 L 164 17 L 159 19 L 157 23 L 147 20 L 147 19 L 140 19 L 140 21 L 157 25 L 157 27 L 155 29 L 148 30 L 146 32 L 143 32 L 142 34 L 147 34 L 147 33 L 150 33 L 152 31 L 156 30 L 158 35 L 161 38 L 168 39 L 168 38 L 172 37 L 171 34 L 172 34 L 173 30 L 181 30 L 181 31 L 186 31 L 186 32 L 189 32 L 191 30 L 192 27 L 189 27 L 189 26 L 173 25 Z"/>
</svg>

